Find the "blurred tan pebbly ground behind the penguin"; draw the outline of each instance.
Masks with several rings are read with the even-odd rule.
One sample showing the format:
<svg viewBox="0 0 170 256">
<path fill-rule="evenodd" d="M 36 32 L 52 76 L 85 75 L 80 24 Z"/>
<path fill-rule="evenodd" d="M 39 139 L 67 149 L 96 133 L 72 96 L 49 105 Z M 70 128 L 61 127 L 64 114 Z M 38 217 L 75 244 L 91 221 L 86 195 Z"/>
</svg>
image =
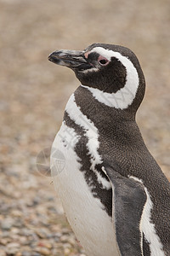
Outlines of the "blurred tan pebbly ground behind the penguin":
<svg viewBox="0 0 170 256">
<path fill-rule="evenodd" d="M 36 166 L 79 85 L 48 61 L 55 49 L 109 43 L 135 52 L 147 84 L 137 121 L 170 178 L 169 14 L 169 0 L 0 0 L 0 256 L 85 255 Z"/>
</svg>

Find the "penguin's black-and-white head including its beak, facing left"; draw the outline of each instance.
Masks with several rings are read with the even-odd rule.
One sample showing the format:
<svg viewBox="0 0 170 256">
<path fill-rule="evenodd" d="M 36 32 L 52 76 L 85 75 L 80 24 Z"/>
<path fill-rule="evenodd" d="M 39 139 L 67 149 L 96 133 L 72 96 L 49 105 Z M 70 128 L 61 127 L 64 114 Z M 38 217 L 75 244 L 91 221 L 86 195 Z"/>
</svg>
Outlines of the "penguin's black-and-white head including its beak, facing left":
<svg viewBox="0 0 170 256">
<path fill-rule="evenodd" d="M 143 100 L 144 74 L 136 55 L 126 47 L 92 44 L 82 51 L 54 51 L 48 60 L 70 67 L 82 86 L 109 107 L 137 110 Z"/>
</svg>

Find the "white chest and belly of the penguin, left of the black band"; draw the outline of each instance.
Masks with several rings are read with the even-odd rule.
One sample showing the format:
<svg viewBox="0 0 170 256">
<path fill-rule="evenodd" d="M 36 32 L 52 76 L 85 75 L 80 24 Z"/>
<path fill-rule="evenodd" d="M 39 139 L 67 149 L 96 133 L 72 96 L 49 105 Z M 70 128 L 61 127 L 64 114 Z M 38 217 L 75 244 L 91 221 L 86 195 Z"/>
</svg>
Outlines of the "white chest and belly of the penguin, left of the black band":
<svg viewBox="0 0 170 256">
<path fill-rule="evenodd" d="M 54 187 L 63 204 L 66 217 L 90 256 L 116 256 L 116 235 L 111 217 L 86 183 L 74 146 L 79 137 L 63 124 L 55 137 L 51 156 Z M 57 154 L 54 154 L 58 152 Z M 63 166 L 59 169 L 59 157 Z"/>
</svg>

